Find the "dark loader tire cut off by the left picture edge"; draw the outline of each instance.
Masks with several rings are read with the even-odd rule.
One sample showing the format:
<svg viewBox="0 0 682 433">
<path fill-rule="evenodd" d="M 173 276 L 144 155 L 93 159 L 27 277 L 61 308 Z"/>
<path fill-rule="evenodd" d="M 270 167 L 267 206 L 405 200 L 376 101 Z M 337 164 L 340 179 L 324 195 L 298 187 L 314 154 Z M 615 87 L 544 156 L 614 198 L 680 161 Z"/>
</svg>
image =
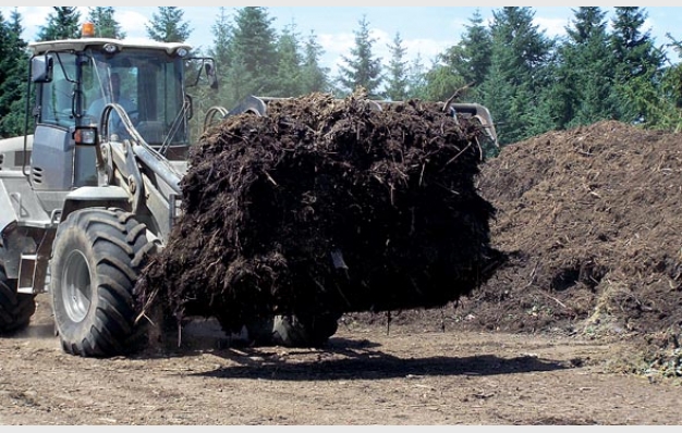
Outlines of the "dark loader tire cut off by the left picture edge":
<svg viewBox="0 0 682 433">
<path fill-rule="evenodd" d="M 13 334 L 28 326 L 36 312 L 35 295 L 16 293 L 16 281 L 10 280 L 0 263 L 0 334 Z"/>
</svg>

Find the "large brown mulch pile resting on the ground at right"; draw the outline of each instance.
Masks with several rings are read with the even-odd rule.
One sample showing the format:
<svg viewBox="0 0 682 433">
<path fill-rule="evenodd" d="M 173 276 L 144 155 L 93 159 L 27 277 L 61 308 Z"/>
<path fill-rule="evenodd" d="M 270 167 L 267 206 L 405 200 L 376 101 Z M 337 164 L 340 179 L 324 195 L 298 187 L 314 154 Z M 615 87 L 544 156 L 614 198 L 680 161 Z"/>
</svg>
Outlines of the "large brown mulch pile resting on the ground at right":
<svg viewBox="0 0 682 433">
<path fill-rule="evenodd" d="M 479 187 L 510 259 L 462 302 L 462 325 L 641 339 L 682 375 L 682 135 L 550 132 L 487 161 Z"/>
</svg>

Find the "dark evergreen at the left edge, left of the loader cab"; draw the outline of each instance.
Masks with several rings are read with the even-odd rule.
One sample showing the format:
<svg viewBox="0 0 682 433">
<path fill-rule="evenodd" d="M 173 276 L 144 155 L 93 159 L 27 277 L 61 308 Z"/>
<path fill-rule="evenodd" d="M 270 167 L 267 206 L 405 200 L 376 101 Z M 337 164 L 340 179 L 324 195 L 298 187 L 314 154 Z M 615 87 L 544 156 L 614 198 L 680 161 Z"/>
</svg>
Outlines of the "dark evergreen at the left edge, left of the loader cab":
<svg viewBox="0 0 682 433">
<path fill-rule="evenodd" d="M 0 14 L 0 137 L 23 135 L 26 120 L 33 125 L 33 117 L 26 117 L 28 55 L 23 30 L 16 9 L 9 22 Z"/>
</svg>

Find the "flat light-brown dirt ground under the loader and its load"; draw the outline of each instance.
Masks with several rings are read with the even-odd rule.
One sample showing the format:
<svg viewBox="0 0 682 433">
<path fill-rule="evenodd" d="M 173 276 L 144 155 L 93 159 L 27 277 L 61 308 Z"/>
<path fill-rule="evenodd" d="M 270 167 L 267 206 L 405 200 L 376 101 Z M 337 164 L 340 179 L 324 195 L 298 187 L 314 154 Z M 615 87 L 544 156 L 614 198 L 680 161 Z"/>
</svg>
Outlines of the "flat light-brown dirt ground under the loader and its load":
<svg viewBox="0 0 682 433">
<path fill-rule="evenodd" d="M 325 349 L 239 349 L 202 322 L 180 350 L 98 360 L 61 351 L 42 297 L 32 334 L 0 339 L 1 424 L 682 422 L 679 384 L 610 367 L 619 341 L 343 318 Z"/>
</svg>

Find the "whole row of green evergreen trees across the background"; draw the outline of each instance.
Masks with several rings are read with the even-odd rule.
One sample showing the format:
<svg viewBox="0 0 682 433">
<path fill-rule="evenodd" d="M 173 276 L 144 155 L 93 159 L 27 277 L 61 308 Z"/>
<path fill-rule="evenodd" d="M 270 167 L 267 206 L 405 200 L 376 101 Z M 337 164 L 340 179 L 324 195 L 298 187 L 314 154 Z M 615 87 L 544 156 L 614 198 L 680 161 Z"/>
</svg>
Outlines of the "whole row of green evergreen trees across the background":
<svg viewBox="0 0 682 433">
<path fill-rule="evenodd" d="M 671 35 L 657 45 L 645 8 L 616 7 L 610 18 L 599 7 L 572 10 L 565 36 L 549 37 L 534 24 L 531 7 L 502 7 L 484 22 L 479 11 L 468 20 L 461 40 L 427 62 L 407 60 L 397 33 L 376 54 L 370 23 L 358 18 L 354 46 L 342 55 L 332 76 L 320 59 L 324 48 L 313 30 L 302 35 L 295 24 L 278 30 L 265 7 L 220 8 L 211 28 L 214 40 L 196 54 L 216 60 L 220 87 L 195 97 L 195 113 L 212 106 L 234 107 L 249 95 L 296 97 L 331 92 L 344 97 L 362 87 L 376 99 L 422 99 L 487 107 L 501 145 L 548 131 L 617 120 L 647 128 L 680 131 L 682 55 Z M 80 36 L 80 24 L 95 23 L 97 36 L 124 38 L 112 7 L 94 7 L 81 16 L 75 7 L 53 7 L 36 40 Z M 183 42 L 191 23 L 178 7 L 158 7 L 146 26 L 157 41 Z M 0 14 L 0 136 L 23 134 L 27 108 L 24 90 L 27 42 L 22 16 Z M 494 150 L 491 150 L 494 151 Z"/>
</svg>

